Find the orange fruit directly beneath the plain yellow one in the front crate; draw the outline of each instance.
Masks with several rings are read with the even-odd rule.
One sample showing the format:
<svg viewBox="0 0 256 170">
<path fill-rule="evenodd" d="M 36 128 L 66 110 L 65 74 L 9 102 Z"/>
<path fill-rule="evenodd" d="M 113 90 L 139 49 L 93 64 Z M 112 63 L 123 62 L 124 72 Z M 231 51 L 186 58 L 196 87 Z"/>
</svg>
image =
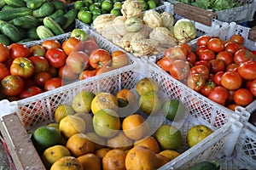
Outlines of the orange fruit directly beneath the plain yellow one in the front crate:
<svg viewBox="0 0 256 170">
<path fill-rule="evenodd" d="M 67 139 L 66 147 L 73 156 L 82 156 L 86 153 L 93 153 L 95 145 L 84 133 L 75 133 Z"/>
</svg>

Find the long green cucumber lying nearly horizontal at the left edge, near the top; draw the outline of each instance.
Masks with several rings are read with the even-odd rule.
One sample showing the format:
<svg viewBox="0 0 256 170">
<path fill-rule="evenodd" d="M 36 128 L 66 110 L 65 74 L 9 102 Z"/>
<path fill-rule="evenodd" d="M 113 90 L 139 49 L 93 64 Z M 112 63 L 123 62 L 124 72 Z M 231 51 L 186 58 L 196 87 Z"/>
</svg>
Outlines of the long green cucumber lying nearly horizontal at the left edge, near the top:
<svg viewBox="0 0 256 170">
<path fill-rule="evenodd" d="M 32 10 L 25 7 L 9 8 L 0 11 L 0 20 L 9 21 L 26 15 L 32 15 Z"/>
</svg>

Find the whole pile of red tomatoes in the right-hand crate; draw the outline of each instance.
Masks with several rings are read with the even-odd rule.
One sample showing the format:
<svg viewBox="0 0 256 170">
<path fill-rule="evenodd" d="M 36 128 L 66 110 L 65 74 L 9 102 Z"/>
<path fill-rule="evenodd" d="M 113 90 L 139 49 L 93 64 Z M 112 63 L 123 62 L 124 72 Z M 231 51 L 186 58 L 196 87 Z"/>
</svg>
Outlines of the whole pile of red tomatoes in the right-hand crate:
<svg viewBox="0 0 256 170">
<path fill-rule="evenodd" d="M 201 36 L 193 44 L 196 47 L 180 44 L 166 49 L 157 65 L 189 88 L 234 111 L 256 97 L 256 55 L 243 42 L 240 35 L 226 41 Z"/>
</svg>

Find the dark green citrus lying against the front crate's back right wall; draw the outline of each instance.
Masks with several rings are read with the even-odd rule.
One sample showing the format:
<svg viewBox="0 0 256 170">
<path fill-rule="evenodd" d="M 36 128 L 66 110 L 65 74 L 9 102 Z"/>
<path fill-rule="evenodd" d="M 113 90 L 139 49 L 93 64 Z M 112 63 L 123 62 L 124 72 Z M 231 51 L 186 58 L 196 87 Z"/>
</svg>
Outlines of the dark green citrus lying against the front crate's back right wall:
<svg viewBox="0 0 256 170">
<path fill-rule="evenodd" d="M 162 111 L 168 120 L 180 120 L 186 112 L 186 106 L 178 99 L 170 99 L 164 103 Z"/>
</svg>

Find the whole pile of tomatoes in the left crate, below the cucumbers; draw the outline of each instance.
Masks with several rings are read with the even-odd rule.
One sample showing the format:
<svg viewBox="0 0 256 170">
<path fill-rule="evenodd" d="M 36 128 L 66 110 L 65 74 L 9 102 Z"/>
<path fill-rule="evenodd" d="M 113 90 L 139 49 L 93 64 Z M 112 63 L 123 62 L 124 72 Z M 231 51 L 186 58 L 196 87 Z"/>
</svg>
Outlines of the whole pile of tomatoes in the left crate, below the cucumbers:
<svg viewBox="0 0 256 170">
<path fill-rule="evenodd" d="M 18 100 L 128 65 L 122 51 L 99 47 L 94 37 L 45 40 L 31 47 L 0 43 L 0 96 Z"/>
</svg>

